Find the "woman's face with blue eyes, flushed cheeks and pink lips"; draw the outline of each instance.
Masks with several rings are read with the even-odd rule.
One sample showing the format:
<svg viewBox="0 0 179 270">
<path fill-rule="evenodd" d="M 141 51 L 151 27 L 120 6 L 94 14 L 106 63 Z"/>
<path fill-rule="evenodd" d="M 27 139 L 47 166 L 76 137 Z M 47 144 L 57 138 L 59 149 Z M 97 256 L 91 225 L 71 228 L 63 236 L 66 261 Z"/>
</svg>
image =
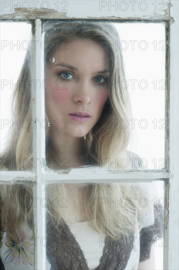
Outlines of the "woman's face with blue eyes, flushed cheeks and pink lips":
<svg viewBox="0 0 179 270">
<path fill-rule="evenodd" d="M 51 55 L 46 112 L 51 130 L 82 137 L 98 122 L 108 98 L 108 57 L 97 43 L 77 39 Z"/>
</svg>

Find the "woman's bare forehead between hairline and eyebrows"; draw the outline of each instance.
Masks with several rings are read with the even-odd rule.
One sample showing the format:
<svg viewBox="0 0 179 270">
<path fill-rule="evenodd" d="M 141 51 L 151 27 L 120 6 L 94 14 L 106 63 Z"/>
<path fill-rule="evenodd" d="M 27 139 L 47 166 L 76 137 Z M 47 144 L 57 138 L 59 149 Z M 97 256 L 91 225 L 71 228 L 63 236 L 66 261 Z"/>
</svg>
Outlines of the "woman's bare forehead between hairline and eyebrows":
<svg viewBox="0 0 179 270">
<path fill-rule="evenodd" d="M 76 39 L 60 47 L 51 55 L 53 65 L 68 62 L 71 65 L 85 65 L 100 70 L 108 67 L 108 56 L 104 48 L 88 39 Z"/>
</svg>

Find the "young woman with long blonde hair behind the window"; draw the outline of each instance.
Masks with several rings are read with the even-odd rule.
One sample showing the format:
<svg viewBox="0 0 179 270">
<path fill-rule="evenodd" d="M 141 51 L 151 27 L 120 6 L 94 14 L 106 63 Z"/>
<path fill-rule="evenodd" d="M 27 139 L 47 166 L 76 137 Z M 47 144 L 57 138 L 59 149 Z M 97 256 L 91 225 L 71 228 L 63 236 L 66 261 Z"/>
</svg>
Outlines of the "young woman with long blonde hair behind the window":
<svg viewBox="0 0 179 270">
<path fill-rule="evenodd" d="M 49 23 L 45 31 L 49 167 L 61 169 L 64 161 L 69 169 L 108 166 L 117 158 L 118 168 L 132 168 L 129 162 L 136 157 L 127 150 L 130 127 L 114 125 L 131 116 L 128 91 L 120 87 L 120 81 L 125 80 L 122 55 L 112 46 L 119 42 L 115 27 L 107 23 L 65 22 Z M 28 81 L 27 55 L 14 94 L 14 115 L 15 119 L 31 123 L 30 87 L 25 85 Z M 23 159 L 30 161 L 26 169 L 33 166 L 32 128 L 12 130 L 2 167 L 24 169 Z M 126 160 L 128 166 L 124 165 Z M 139 261 L 145 261 L 142 269 L 154 269 L 150 252 L 158 229 L 148 187 L 51 184 L 46 192 L 47 269 L 133 270 L 138 269 Z M 3 266 L 33 269 L 32 189 L 26 184 L 3 185 L 1 196 L 17 200 L 17 204 L 3 202 L 1 207 Z M 145 207 L 134 202 L 141 197 L 149 202 Z M 27 207 L 25 198 L 30 202 Z M 55 198 L 66 199 L 67 207 L 56 204 Z M 146 241 L 142 243 L 141 239 Z"/>
</svg>

